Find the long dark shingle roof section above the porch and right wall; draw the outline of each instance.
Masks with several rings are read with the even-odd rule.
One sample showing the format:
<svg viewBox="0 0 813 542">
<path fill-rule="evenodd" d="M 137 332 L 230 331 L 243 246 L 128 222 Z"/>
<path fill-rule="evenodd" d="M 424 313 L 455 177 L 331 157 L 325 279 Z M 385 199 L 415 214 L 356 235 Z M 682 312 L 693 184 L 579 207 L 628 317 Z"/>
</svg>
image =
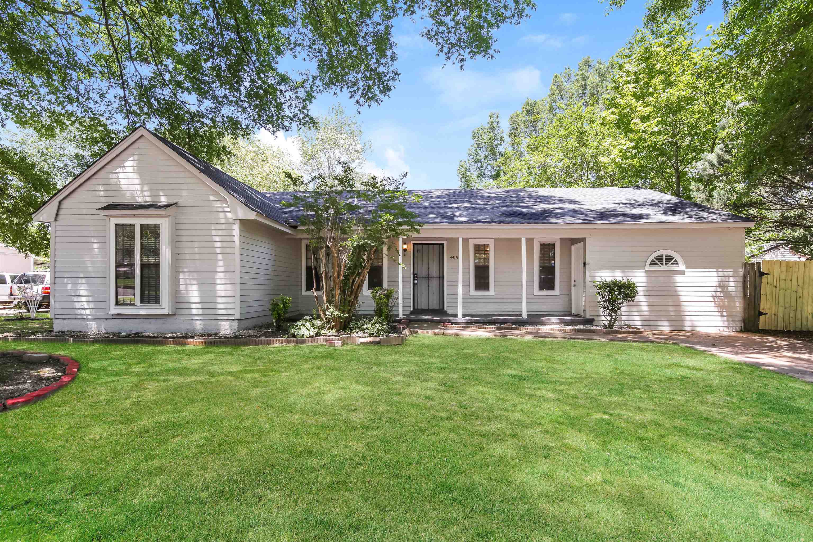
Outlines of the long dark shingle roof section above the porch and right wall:
<svg viewBox="0 0 813 542">
<path fill-rule="evenodd" d="M 751 219 L 647 189 L 412 190 L 408 207 L 424 224 L 719 223 Z M 293 192 L 267 192 L 289 223 L 298 209 L 280 206 Z"/>
</svg>

